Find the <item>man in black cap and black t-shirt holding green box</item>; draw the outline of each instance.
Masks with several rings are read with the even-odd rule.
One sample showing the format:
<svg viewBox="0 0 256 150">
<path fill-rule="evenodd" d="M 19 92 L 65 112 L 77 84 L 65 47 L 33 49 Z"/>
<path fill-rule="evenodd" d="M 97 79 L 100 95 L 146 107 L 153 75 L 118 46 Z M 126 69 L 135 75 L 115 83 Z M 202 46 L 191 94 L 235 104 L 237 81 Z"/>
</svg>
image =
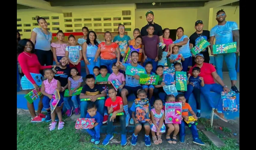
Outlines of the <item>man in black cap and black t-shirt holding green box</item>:
<svg viewBox="0 0 256 150">
<path fill-rule="evenodd" d="M 210 39 L 210 31 L 208 30 L 203 30 L 204 24 L 202 20 L 197 20 L 195 22 L 195 33 L 193 33 L 189 37 L 189 47 L 192 49 L 194 46 L 196 46 L 200 41 L 203 39 L 207 40 L 209 42 Z M 209 56 L 209 51 L 208 47 L 204 49 L 201 54 L 204 55 L 204 62 L 209 63 L 210 62 L 210 56 Z M 193 54 L 192 54 L 193 55 Z M 195 56 L 192 56 L 192 66 L 195 65 Z"/>
</svg>

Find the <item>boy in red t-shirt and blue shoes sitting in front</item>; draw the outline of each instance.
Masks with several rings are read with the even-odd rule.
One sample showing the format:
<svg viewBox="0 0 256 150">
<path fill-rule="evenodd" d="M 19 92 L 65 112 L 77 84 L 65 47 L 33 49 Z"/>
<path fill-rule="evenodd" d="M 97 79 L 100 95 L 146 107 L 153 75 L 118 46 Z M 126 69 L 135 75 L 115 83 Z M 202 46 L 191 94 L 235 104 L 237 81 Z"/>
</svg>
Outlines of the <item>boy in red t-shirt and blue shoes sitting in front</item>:
<svg viewBox="0 0 256 150">
<path fill-rule="evenodd" d="M 109 141 L 113 139 L 112 127 L 114 119 L 116 119 L 117 113 L 124 112 L 123 110 L 123 99 L 120 96 L 117 96 L 117 91 L 111 87 L 108 89 L 109 98 L 105 101 L 105 106 L 108 108 L 108 127 L 107 127 L 107 136 L 102 142 L 103 145 L 108 145 Z M 111 115 L 112 114 L 112 115 Z M 121 124 L 121 146 L 126 145 L 126 114 L 118 116 Z"/>
</svg>

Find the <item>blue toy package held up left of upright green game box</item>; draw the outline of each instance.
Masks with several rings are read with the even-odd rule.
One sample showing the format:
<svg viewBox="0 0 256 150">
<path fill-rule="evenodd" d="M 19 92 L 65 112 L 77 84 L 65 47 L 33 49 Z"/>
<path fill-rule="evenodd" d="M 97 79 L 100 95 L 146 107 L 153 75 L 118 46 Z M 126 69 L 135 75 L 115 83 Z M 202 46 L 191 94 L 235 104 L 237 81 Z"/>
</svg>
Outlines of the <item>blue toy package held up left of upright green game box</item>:
<svg viewBox="0 0 256 150">
<path fill-rule="evenodd" d="M 173 67 L 164 67 L 163 82 L 165 85 L 173 85 L 175 80 L 175 69 Z"/>
</svg>

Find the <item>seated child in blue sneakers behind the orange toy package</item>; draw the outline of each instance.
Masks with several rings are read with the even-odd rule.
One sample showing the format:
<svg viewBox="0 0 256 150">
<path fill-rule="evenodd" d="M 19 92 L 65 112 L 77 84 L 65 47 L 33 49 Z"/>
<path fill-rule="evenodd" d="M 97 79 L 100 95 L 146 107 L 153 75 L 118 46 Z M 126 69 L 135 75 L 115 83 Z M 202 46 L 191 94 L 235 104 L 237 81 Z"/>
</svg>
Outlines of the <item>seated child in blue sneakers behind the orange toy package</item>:
<svg viewBox="0 0 256 150">
<path fill-rule="evenodd" d="M 147 98 L 147 92 L 145 90 L 139 90 L 138 94 L 137 94 L 138 98 Z M 137 139 L 138 139 L 138 134 L 141 131 L 142 127 L 144 127 L 145 129 L 145 136 L 144 136 L 144 142 L 145 142 L 145 146 L 151 146 L 151 142 L 150 142 L 150 137 L 149 137 L 149 133 L 150 133 L 150 124 L 152 124 L 151 120 L 149 122 L 145 122 L 145 123 L 139 123 L 136 119 L 136 108 L 135 108 L 135 102 L 133 102 L 132 107 L 130 108 L 132 113 L 132 119 L 130 120 L 130 124 L 134 124 L 135 121 L 135 129 L 134 129 L 134 133 L 132 135 L 132 140 L 131 140 L 131 144 L 132 146 L 136 146 L 137 144 Z M 149 111 L 150 111 L 150 104 L 149 104 Z"/>
</svg>

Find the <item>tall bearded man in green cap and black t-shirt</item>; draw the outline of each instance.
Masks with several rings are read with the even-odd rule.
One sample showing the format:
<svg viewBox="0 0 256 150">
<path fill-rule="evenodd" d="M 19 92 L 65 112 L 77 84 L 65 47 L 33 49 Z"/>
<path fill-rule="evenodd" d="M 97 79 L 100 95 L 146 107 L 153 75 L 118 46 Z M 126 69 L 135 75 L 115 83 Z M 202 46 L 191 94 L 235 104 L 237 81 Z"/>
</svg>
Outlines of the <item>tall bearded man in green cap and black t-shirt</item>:
<svg viewBox="0 0 256 150">
<path fill-rule="evenodd" d="M 148 24 L 141 28 L 140 35 L 141 36 L 148 35 L 148 32 L 147 32 L 148 25 L 152 23 L 154 25 L 154 28 L 155 28 L 155 31 L 154 31 L 153 35 L 158 35 L 159 39 L 160 39 L 160 42 L 164 43 L 162 27 L 160 25 L 156 24 L 155 22 L 153 22 L 153 20 L 155 18 L 153 11 L 148 10 L 148 12 L 146 13 L 146 18 L 147 18 Z"/>
</svg>

